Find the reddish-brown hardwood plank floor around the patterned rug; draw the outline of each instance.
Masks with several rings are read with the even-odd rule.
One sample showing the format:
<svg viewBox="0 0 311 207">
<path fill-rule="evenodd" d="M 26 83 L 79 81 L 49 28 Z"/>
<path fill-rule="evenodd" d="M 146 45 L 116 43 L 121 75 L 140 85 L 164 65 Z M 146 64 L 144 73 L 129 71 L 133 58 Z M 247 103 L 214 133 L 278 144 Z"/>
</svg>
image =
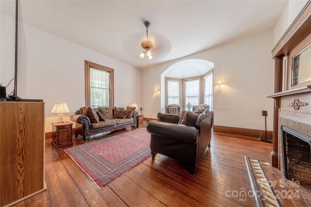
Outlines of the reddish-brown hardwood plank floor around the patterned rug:
<svg viewBox="0 0 311 207">
<path fill-rule="evenodd" d="M 124 133 L 126 128 L 104 137 Z M 103 138 L 96 138 L 103 139 Z M 90 142 L 95 141 L 91 140 Z M 74 146 L 83 144 L 74 139 Z M 241 200 L 232 191 L 251 191 L 243 156 L 269 160 L 271 143 L 254 138 L 212 133 L 211 147 L 194 171 L 182 163 L 157 155 L 145 160 L 104 189 L 99 189 L 64 152 L 46 143 L 45 180 L 47 191 L 16 206 L 255 206 L 253 197 Z"/>
</svg>

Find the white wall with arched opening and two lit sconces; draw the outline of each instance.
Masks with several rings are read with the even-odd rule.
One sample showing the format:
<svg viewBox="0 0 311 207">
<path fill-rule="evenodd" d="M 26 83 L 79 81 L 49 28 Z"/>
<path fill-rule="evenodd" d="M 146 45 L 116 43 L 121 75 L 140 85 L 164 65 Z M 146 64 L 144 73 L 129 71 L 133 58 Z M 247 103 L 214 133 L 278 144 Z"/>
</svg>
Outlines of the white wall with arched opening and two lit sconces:
<svg viewBox="0 0 311 207">
<path fill-rule="evenodd" d="M 214 124 L 229 127 L 262 129 L 261 111 L 268 111 L 267 128 L 273 128 L 274 101 L 266 96 L 274 93 L 273 30 L 261 32 L 216 48 L 142 70 L 142 106 L 144 117 L 155 118 L 161 111 L 161 74 L 172 64 L 187 59 L 203 59 L 214 67 Z M 217 81 L 223 86 L 219 88 Z M 160 93 L 164 90 L 160 88 Z"/>
</svg>

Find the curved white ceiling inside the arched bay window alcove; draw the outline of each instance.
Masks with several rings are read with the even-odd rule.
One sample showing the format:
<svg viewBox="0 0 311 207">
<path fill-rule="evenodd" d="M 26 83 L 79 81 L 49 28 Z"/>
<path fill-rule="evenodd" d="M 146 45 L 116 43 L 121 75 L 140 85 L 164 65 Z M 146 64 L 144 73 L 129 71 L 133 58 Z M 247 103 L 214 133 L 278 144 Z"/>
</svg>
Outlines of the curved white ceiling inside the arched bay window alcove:
<svg viewBox="0 0 311 207">
<path fill-rule="evenodd" d="M 184 60 L 170 66 L 165 71 L 165 77 L 183 79 L 193 76 L 201 76 L 204 75 L 207 71 L 211 70 L 213 67 L 214 64 L 206 60 Z"/>
</svg>

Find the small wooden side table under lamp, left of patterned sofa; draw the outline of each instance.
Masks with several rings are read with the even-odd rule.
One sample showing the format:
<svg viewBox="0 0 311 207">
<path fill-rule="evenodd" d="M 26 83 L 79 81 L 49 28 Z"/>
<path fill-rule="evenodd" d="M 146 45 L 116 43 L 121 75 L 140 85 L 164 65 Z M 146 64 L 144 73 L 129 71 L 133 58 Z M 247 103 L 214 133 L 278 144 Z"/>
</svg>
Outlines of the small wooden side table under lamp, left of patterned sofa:
<svg viewBox="0 0 311 207">
<path fill-rule="evenodd" d="M 52 145 L 55 148 L 72 145 L 71 122 L 52 123 Z"/>
</svg>

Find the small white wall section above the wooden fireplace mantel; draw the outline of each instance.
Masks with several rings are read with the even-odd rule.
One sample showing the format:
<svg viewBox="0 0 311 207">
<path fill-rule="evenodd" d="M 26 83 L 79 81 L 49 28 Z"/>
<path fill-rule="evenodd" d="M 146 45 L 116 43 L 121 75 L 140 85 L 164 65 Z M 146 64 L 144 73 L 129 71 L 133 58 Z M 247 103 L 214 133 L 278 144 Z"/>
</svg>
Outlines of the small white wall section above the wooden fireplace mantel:
<svg viewBox="0 0 311 207">
<path fill-rule="evenodd" d="M 288 27 L 293 23 L 302 8 L 306 5 L 308 0 L 289 0 L 288 5 L 284 9 L 282 15 L 276 22 L 273 28 L 273 45 L 280 40 Z"/>
</svg>

